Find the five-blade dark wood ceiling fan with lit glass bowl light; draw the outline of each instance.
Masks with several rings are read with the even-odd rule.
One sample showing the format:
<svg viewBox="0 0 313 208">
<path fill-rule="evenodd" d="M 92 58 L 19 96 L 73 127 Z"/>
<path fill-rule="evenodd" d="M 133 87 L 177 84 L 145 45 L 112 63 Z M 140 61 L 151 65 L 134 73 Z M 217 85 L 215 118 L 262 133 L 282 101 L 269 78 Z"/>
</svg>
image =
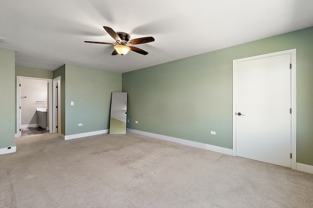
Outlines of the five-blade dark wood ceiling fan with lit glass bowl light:
<svg viewBox="0 0 313 208">
<path fill-rule="evenodd" d="M 137 44 L 155 41 L 155 38 L 153 37 L 136 38 L 136 39 L 130 40 L 131 36 L 127 33 L 123 33 L 123 32 L 116 33 L 111 27 L 107 27 L 107 26 L 103 26 L 103 28 L 107 31 L 107 33 L 109 33 L 109 35 L 116 41 L 117 44 L 109 43 L 109 42 L 94 42 L 94 41 L 84 41 L 84 42 L 114 45 L 114 51 L 112 53 L 112 56 L 115 56 L 117 54 L 120 54 L 123 56 L 127 54 L 129 51 L 134 51 L 141 55 L 147 55 L 148 52 L 140 48 L 131 46 L 131 45 L 137 45 Z"/>
</svg>

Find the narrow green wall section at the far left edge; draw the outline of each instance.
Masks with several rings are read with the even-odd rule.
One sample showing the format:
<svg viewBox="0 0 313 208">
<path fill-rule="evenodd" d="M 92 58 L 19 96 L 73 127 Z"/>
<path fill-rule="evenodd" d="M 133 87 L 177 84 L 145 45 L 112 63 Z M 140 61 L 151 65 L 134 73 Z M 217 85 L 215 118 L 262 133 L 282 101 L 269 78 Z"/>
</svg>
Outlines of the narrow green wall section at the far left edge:
<svg viewBox="0 0 313 208">
<path fill-rule="evenodd" d="M 0 149 L 15 146 L 15 52 L 0 48 Z"/>
</svg>

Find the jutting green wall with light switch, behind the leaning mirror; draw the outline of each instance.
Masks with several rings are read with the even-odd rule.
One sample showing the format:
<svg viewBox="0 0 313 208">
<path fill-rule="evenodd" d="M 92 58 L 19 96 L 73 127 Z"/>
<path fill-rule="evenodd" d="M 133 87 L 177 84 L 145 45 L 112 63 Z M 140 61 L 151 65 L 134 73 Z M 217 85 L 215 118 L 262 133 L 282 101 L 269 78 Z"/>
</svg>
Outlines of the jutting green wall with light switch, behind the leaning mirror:
<svg viewBox="0 0 313 208">
<path fill-rule="evenodd" d="M 61 133 L 109 129 L 111 93 L 121 92 L 122 75 L 66 64 L 54 72 L 57 76 L 61 76 Z"/>
</svg>

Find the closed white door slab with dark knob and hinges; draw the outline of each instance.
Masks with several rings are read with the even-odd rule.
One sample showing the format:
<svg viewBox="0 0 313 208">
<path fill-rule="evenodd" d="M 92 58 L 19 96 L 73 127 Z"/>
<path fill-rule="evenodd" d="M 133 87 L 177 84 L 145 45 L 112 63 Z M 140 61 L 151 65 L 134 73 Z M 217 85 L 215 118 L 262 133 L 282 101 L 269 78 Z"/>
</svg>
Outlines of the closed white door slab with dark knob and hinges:
<svg viewBox="0 0 313 208">
<path fill-rule="evenodd" d="M 291 54 L 236 63 L 236 155 L 291 167 Z"/>
</svg>

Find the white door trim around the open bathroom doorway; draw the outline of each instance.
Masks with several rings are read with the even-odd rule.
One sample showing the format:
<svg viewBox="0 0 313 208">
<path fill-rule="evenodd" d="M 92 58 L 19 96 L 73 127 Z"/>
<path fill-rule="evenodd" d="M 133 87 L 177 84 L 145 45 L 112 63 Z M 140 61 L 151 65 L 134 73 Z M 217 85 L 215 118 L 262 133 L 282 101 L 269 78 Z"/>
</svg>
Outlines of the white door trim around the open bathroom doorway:
<svg viewBox="0 0 313 208">
<path fill-rule="evenodd" d="M 49 132 L 52 133 L 52 79 L 28 77 L 28 76 L 16 76 L 16 135 L 15 137 L 21 136 L 21 79 L 33 79 L 33 80 L 44 80 L 48 83 L 48 112 L 49 112 Z"/>
</svg>

